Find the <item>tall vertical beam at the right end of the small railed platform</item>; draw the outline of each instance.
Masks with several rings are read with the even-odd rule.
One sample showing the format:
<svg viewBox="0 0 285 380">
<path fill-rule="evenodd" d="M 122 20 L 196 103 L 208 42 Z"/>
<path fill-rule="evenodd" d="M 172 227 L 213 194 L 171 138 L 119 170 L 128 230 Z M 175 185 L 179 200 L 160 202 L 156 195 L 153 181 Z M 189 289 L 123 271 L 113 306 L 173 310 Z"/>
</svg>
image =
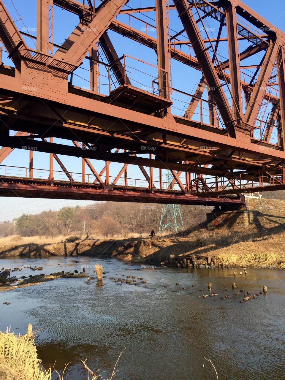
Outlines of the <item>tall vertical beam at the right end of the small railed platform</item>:
<svg viewBox="0 0 285 380">
<path fill-rule="evenodd" d="M 160 96 L 170 99 L 169 91 L 169 59 L 168 44 L 168 0 L 155 0 L 155 14 L 157 27 L 157 62 L 158 62 L 158 88 Z"/>
</svg>

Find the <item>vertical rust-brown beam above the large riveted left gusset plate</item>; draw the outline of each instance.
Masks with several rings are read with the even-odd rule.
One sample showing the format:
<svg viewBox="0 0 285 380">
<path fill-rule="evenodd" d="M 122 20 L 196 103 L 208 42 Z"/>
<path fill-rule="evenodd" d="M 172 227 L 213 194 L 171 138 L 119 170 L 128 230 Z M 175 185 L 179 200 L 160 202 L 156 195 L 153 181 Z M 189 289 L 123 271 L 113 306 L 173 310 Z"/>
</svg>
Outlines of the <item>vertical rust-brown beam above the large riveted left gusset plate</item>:
<svg viewBox="0 0 285 380">
<path fill-rule="evenodd" d="M 49 54 L 49 0 L 36 1 L 36 48 Z"/>
</svg>

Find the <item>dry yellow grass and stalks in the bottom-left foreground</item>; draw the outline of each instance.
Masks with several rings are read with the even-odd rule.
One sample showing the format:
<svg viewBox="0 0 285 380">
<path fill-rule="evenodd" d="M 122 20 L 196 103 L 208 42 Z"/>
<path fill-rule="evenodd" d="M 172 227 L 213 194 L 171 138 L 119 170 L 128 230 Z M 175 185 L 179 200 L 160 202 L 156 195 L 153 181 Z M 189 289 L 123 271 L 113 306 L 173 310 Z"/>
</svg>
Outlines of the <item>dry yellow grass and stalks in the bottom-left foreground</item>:
<svg viewBox="0 0 285 380">
<path fill-rule="evenodd" d="M 122 352 L 120 356 L 121 354 Z M 116 377 L 118 372 L 116 367 L 120 356 L 115 364 L 111 377 L 105 380 L 112 380 Z M 92 370 L 85 364 L 86 360 L 84 362 L 82 361 L 84 367 L 88 370 L 86 380 L 102 380 L 102 375 L 99 373 L 99 370 L 93 374 Z M 59 374 L 54 368 L 58 375 L 58 380 L 64 379 L 64 372 L 67 367 L 68 364 L 63 369 L 62 374 Z M 38 358 L 33 336 L 28 334 L 16 336 L 14 332 L 10 332 L 8 328 L 5 332 L 0 331 L 0 378 L 5 378 L 5 380 L 52 380 L 52 369 L 42 369 L 41 360 Z"/>
</svg>

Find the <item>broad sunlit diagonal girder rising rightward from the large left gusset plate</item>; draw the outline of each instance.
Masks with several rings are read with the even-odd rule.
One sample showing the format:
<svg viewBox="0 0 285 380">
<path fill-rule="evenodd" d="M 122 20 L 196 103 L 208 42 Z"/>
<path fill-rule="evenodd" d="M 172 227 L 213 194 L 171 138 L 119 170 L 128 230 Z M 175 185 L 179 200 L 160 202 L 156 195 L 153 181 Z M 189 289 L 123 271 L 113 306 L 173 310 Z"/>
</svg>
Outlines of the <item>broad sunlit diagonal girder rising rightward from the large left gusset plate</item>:
<svg viewBox="0 0 285 380">
<path fill-rule="evenodd" d="M 101 3 L 90 24 L 86 26 L 80 22 L 62 44 L 62 47 L 67 47 L 68 50 L 59 48 L 54 54 L 54 59 L 78 67 L 127 2 L 128 0 L 105 0 Z"/>
</svg>

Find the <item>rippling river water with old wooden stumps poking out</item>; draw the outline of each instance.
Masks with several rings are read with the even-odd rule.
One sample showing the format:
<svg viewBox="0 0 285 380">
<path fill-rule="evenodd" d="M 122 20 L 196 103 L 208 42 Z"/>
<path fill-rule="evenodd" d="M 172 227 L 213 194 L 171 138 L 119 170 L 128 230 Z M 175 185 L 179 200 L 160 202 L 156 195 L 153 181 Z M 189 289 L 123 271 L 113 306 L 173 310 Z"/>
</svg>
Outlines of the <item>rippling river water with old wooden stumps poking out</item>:
<svg viewBox="0 0 285 380">
<path fill-rule="evenodd" d="M 95 280 L 87 285 L 83 278 L 57 279 L 0 292 L 1 330 L 11 326 L 24 334 L 28 323 L 43 328 L 36 339 L 39 357 L 46 368 L 55 361 L 56 369 L 71 362 L 65 380 L 88 377 L 80 362 L 86 358 L 105 379 L 124 348 L 117 367 L 122 380 L 216 379 L 209 362 L 203 367 L 203 356 L 211 359 L 219 380 L 285 379 L 285 271 L 249 268 L 246 276 L 235 278 L 232 291 L 232 269 L 153 270 L 90 257 L 1 259 L 0 267 L 43 266 L 40 272 L 13 272 L 20 276 L 81 271 L 82 265 L 95 263 L 107 272 L 105 286 Z M 86 272 L 93 275 L 93 269 Z M 109 279 L 123 274 L 143 277 L 146 284 Z M 208 282 L 218 296 L 201 297 L 211 293 Z M 246 303 L 239 302 L 246 293 L 234 295 L 259 293 L 263 285 L 268 295 Z M 230 297 L 222 300 L 225 295 Z M 6 301 L 11 304 L 3 305 Z"/>
</svg>

